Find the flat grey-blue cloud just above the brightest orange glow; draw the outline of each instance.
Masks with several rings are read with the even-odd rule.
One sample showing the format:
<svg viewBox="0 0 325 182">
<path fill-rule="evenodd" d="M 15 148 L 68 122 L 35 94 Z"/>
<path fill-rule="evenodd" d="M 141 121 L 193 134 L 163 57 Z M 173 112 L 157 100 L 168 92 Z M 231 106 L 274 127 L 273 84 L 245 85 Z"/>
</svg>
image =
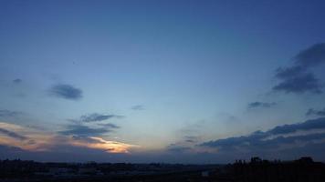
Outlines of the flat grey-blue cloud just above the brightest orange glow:
<svg viewBox="0 0 325 182">
<path fill-rule="evenodd" d="M 66 130 L 58 133 L 65 136 L 101 136 L 108 132 L 110 129 L 104 127 L 92 128 L 82 125 L 69 125 Z"/>
</svg>

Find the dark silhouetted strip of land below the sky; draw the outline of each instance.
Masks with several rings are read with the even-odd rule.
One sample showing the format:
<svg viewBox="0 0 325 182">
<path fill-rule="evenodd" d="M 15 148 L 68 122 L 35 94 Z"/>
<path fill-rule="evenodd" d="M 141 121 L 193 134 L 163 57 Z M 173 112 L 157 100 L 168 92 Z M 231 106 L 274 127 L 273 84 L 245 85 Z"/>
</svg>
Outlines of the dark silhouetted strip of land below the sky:
<svg viewBox="0 0 325 182">
<path fill-rule="evenodd" d="M 311 157 L 228 165 L 40 163 L 1 160 L 0 181 L 325 181 L 325 164 Z"/>
</svg>

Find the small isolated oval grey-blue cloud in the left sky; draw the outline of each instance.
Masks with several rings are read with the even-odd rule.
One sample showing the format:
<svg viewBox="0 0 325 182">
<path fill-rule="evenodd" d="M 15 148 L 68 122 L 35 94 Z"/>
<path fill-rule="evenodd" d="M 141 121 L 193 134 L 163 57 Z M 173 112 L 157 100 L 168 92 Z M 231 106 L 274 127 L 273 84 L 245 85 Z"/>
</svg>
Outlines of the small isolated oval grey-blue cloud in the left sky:
<svg viewBox="0 0 325 182">
<path fill-rule="evenodd" d="M 53 96 L 58 96 L 68 100 L 79 100 L 82 98 L 81 89 L 66 84 L 58 84 L 56 86 L 52 86 L 49 92 Z"/>
</svg>

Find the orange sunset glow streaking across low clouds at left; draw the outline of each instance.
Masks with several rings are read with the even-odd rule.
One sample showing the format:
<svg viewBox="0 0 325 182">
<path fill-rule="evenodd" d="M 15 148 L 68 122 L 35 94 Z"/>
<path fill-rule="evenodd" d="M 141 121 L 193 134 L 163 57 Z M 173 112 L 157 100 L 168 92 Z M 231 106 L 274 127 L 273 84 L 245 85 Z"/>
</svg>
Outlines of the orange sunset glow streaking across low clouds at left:
<svg viewBox="0 0 325 182">
<path fill-rule="evenodd" d="M 2 135 L 0 133 L 0 145 L 18 147 L 28 151 L 50 151 L 59 145 L 69 145 L 75 147 L 88 147 L 104 150 L 107 153 L 130 153 L 131 147 L 138 147 L 117 141 L 105 140 L 97 136 L 89 136 L 86 139 L 75 139 L 72 136 L 58 136 L 36 129 L 7 124 L 0 122 L 0 128 L 26 136 L 24 139 Z M 91 141 L 87 140 L 89 138 Z"/>
</svg>

